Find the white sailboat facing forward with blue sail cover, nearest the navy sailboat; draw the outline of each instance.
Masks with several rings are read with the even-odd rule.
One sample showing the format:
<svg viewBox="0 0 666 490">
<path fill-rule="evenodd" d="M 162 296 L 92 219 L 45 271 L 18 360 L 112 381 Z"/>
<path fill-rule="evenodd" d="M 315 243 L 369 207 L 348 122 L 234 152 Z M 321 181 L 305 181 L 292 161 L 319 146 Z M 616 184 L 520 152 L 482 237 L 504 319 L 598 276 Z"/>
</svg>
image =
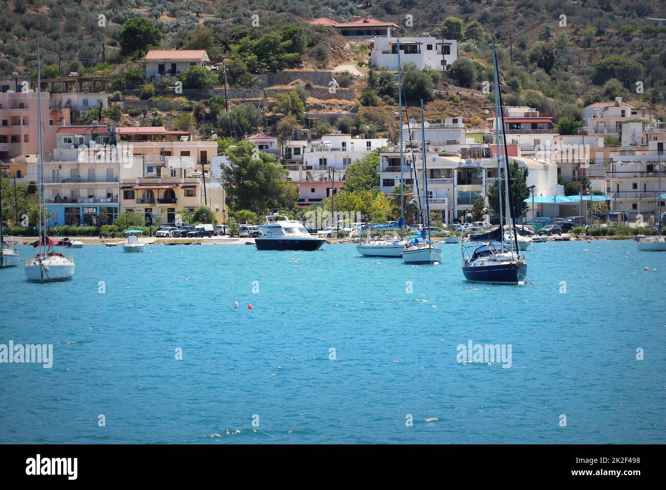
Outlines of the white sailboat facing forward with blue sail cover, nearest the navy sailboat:
<svg viewBox="0 0 666 490">
<path fill-rule="evenodd" d="M 420 235 L 410 237 L 410 243 L 405 245 L 405 249 L 400 255 L 402 256 L 402 261 L 406 264 L 440 264 L 442 263 L 442 246 L 439 242 L 433 242 L 430 239 L 430 201 L 428 201 L 428 168 L 426 165 L 426 130 L 423 115 L 423 100 L 421 101 L 421 140 L 424 197 L 422 200 L 419 195 L 419 208 L 423 215 L 423 201 L 425 201 L 426 219 L 424 221 L 422 218 L 421 221 L 426 223 L 426 227 L 421 230 Z M 415 179 L 415 181 L 417 180 L 418 178 Z"/>
</svg>

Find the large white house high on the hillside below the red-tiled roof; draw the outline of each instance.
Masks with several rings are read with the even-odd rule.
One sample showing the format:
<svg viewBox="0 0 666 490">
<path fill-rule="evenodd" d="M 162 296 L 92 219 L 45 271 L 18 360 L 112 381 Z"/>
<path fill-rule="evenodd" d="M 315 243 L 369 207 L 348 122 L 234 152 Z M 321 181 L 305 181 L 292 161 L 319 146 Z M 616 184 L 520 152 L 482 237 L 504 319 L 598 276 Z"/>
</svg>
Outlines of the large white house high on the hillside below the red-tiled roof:
<svg viewBox="0 0 666 490">
<path fill-rule="evenodd" d="M 400 38 L 400 63 L 414 63 L 418 69 L 444 71 L 458 59 L 456 39 L 437 39 L 424 33 L 423 37 Z M 376 37 L 370 41 L 370 61 L 378 69 L 398 69 L 398 38 Z"/>
</svg>

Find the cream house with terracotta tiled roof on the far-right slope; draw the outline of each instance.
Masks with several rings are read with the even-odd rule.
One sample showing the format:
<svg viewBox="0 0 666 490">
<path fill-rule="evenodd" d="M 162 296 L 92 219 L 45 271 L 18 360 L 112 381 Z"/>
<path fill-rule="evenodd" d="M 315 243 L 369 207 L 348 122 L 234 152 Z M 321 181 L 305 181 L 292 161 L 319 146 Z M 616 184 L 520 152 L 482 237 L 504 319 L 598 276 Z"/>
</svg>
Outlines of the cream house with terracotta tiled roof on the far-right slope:
<svg viewBox="0 0 666 490">
<path fill-rule="evenodd" d="M 643 127 L 647 127 L 647 129 L 656 126 L 654 116 L 648 114 L 645 107 L 641 109 L 633 107 L 633 105 L 623 102 L 622 97 L 615 97 L 615 101 L 612 102 L 595 102 L 585 107 L 584 120 L 589 135 L 619 137 L 619 133 L 623 133 L 623 144 L 625 144 L 625 136 L 624 131 L 621 131 L 620 128 L 626 123 L 625 121 L 635 119 L 645 121 Z M 636 129 L 637 126 L 633 127 L 633 131 L 629 129 L 629 136 L 627 136 L 626 140 L 627 145 L 640 144 L 637 143 L 635 137 Z"/>
</svg>

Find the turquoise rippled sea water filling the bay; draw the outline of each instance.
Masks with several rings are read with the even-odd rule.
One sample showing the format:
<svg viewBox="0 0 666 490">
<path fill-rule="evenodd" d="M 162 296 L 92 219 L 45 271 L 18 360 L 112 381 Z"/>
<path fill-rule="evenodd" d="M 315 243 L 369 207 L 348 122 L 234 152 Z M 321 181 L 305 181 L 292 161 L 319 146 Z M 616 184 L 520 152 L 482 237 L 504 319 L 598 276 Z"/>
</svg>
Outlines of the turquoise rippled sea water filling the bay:
<svg viewBox="0 0 666 490">
<path fill-rule="evenodd" d="M 73 281 L 0 269 L 0 344 L 54 357 L 0 363 L 0 442 L 666 443 L 666 253 L 534 247 L 513 287 L 466 283 L 458 245 L 436 266 L 86 245 Z M 511 367 L 458 363 L 470 341 Z"/>
</svg>

